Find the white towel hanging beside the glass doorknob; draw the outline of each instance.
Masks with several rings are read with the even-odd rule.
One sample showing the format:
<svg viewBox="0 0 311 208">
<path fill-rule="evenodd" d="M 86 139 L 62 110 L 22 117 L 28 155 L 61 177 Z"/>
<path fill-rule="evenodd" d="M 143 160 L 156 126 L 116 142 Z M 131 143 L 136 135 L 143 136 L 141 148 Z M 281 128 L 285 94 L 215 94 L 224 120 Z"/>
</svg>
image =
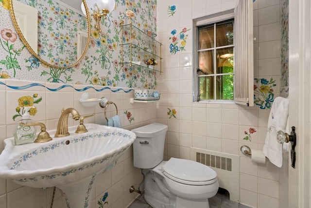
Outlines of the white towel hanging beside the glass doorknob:
<svg viewBox="0 0 311 208">
<path fill-rule="evenodd" d="M 284 97 L 276 97 L 273 102 L 269 119 L 268 132 L 263 146 L 263 154 L 275 164 L 277 167 L 282 167 L 282 144 L 276 141 L 277 131 L 286 132 L 288 121 L 288 99 Z"/>
</svg>

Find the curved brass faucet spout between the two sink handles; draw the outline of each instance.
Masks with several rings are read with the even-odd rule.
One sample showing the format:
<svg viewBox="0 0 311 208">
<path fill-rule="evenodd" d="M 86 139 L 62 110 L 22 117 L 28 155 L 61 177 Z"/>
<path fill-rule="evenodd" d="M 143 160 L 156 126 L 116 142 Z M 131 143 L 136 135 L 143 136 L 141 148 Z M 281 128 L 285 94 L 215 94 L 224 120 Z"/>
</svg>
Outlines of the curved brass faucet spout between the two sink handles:
<svg viewBox="0 0 311 208">
<path fill-rule="evenodd" d="M 74 108 L 68 108 L 62 110 L 62 114 L 59 117 L 55 137 L 69 136 L 68 132 L 68 117 L 69 113 L 72 114 L 72 119 L 79 120 L 80 114 Z"/>
</svg>

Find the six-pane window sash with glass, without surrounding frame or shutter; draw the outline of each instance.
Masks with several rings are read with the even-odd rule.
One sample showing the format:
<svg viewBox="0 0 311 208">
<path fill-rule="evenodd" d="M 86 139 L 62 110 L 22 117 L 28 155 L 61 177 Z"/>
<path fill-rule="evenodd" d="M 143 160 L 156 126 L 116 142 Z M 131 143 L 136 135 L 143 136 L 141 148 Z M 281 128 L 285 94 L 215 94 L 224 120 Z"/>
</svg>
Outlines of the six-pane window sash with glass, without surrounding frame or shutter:
<svg viewBox="0 0 311 208">
<path fill-rule="evenodd" d="M 197 26 L 197 101 L 233 100 L 234 19 Z"/>
</svg>

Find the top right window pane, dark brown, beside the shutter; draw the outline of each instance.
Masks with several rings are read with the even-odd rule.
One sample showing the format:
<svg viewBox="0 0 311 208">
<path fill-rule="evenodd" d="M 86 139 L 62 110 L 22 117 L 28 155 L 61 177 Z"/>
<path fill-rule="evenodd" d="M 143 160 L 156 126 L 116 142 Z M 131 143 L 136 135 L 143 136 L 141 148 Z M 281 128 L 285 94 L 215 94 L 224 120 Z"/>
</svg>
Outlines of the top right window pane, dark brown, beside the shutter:
<svg viewBox="0 0 311 208">
<path fill-rule="evenodd" d="M 233 20 L 216 24 L 216 47 L 233 45 Z"/>
</svg>

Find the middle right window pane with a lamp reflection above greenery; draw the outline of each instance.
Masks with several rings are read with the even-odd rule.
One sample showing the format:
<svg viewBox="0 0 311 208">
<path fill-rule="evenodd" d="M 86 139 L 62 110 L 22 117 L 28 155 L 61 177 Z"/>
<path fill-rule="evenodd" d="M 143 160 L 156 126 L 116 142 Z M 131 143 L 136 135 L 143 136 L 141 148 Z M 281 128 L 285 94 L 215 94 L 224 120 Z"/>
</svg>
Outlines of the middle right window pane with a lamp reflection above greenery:
<svg viewBox="0 0 311 208">
<path fill-rule="evenodd" d="M 216 73 L 233 73 L 233 47 L 217 49 L 216 54 Z"/>
</svg>

